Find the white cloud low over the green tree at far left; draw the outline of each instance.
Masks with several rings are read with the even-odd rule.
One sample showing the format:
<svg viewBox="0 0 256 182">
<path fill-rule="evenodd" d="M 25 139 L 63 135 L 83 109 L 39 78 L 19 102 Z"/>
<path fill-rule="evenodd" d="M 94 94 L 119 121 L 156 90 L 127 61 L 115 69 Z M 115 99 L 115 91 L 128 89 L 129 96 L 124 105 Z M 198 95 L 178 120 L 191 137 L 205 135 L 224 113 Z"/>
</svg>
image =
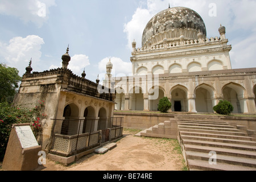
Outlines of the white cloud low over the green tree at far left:
<svg viewBox="0 0 256 182">
<path fill-rule="evenodd" d="M 20 74 L 23 74 L 31 57 L 32 65 L 40 61 L 42 55 L 40 49 L 43 44 L 44 40 L 37 35 L 28 35 L 26 38 L 15 37 L 9 43 L 0 43 L 0 56 L 3 57 L 3 62 L 17 68 Z"/>
</svg>

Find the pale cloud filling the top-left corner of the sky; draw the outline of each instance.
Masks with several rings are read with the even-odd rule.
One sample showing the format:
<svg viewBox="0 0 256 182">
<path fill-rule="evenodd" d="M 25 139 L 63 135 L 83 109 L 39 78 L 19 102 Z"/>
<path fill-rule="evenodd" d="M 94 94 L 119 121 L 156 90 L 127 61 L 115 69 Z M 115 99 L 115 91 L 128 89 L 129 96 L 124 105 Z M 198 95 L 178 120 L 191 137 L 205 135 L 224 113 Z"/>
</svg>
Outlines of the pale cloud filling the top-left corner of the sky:
<svg viewBox="0 0 256 182">
<path fill-rule="evenodd" d="M 16 16 L 41 27 L 48 19 L 51 6 L 55 6 L 55 0 L 1 0 L 0 14 Z"/>
</svg>

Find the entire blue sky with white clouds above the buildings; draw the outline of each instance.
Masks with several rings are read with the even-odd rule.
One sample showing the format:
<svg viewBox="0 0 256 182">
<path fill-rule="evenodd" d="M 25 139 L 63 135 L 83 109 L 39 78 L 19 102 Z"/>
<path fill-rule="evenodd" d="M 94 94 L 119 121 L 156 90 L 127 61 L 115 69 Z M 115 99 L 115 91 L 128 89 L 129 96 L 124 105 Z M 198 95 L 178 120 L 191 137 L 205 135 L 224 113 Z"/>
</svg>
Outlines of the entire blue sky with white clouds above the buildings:
<svg viewBox="0 0 256 182">
<path fill-rule="evenodd" d="M 0 63 L 18 68 L 20 76 L 31 57 L 35 72 L 61 67 L 69 44 L 68 68 L 76 75 L 85 69 L 95 81 L 109 59 L 115 76 L 128 75 L 131 42 L 141 47 L 147 22 L 168 3 L 199 13 L 208 38 L 225 26 L 232 67 L 255 67 L 255 0 L 0 0 Z"/>
</svg>

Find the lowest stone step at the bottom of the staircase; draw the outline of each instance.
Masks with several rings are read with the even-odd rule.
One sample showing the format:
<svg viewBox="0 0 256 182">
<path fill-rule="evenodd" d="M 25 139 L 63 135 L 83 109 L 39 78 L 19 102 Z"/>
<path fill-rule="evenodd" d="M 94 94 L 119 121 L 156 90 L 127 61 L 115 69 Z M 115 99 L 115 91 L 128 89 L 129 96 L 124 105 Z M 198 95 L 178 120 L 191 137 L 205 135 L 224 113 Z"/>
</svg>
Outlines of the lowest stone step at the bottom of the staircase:
<svg viewBox="0 0 256 182">
<path fill-rule="evenodd" d="M 232 164 L 219 163 L 217 165 L 210 165 L 204 160 L 188 159 L 189 170 L 204 170 L 204 171 L 256 171 L 256 168 L 237 166 Z"/>
</svg>

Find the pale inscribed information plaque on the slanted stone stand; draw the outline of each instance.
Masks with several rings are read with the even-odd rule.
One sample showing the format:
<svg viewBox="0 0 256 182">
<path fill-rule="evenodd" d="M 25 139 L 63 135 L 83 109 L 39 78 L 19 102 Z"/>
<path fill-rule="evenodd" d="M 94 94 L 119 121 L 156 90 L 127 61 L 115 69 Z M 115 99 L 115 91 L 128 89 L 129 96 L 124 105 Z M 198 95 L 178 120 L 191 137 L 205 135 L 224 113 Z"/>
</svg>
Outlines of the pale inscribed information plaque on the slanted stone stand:
<svg viewBox="0 0 256 182">
<path fill-rule="evenodd" d="M 30 126 L 15 126 L 22 148 L 30 148 L 39 146 Z"/>
</svg>

